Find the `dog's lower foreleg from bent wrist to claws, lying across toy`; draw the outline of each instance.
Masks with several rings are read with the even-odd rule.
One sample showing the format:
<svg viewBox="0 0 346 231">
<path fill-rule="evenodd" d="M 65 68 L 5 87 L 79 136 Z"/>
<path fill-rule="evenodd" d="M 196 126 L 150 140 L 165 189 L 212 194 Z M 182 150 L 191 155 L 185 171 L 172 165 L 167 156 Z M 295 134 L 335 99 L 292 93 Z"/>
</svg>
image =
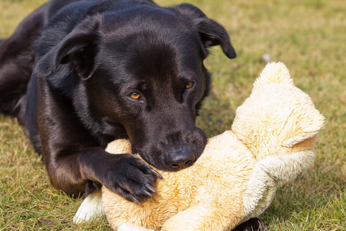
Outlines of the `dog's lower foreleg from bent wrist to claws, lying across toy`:
<svg viewBox="0 0 346 231">
<path fill-rule="evenodd" d="M 159 174 L 135 155 L 89 148 L 80 153 L 79 164 L 83 179 L 101 183 L 127 200 L 139 203 L 156 192 L 152 185 Z"/>
</svg>

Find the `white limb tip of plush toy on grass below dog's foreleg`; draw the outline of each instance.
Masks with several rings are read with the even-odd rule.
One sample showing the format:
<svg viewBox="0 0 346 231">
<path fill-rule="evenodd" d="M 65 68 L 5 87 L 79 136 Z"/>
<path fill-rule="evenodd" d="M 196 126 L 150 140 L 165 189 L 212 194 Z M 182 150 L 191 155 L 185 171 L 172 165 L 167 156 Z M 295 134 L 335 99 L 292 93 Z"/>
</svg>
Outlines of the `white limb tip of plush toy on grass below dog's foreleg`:
<svg viewBox="0 0 346 231">
<path fill-rule="evenodd" d="M 102 215 L 101 197 L 101 190 L 90 193 L 79 207 L 73 222 L 82 223 L 99 219 Z"/>
</svg>

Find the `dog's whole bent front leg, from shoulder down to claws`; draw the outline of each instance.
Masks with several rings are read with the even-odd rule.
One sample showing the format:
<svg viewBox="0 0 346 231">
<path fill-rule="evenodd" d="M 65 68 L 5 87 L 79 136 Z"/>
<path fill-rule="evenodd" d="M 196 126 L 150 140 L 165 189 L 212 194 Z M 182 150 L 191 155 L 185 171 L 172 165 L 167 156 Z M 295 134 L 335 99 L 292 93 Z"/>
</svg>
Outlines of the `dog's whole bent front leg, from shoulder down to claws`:
<svg viewBox="0 0 346 231">
<path fill-rule="evenodd" d="M 156 171 L 134 155 L 106 152 L 73 112 L 71 102 L 42 83 L 39 87 L 43 161 L 55 188 L 79 196 L 104 185 L 134 202 L 156 192 Z"/>
</svg>

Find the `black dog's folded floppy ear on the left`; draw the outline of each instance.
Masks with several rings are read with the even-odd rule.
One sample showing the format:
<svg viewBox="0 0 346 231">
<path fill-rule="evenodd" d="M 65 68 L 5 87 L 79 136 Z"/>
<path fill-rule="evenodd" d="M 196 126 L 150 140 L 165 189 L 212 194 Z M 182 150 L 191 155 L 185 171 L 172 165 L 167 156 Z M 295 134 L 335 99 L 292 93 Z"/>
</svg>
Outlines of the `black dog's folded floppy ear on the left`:
<svg viewBox="0 0 346 231">
<path fill-rule="evenodd" d="M 99 40 L 98 26 L 99 21 L 95 20 L 95 17 L 77 26 L 38 60 L 36 75 L 48 77 L 59 68 L 60 64 L 69 63 L 79 77 L 88 79 L 94 71 L 92 68 Z"/>
</svg>

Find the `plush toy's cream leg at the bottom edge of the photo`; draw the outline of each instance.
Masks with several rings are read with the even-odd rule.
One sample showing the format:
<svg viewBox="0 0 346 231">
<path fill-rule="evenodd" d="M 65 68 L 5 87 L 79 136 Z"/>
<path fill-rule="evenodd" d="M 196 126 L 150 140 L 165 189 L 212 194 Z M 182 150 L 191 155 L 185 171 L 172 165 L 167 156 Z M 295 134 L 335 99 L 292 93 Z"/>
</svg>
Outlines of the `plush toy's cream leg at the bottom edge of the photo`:
<svg viewBox="0 0 346 231">
<path fill-rule="evenodd" d="M 166 221 L 162 231 L 227 231 L 240 222 L 234 218 L 231 223 L 229 213 L 216 211 L 216 205 L 201 203 L 181 211 Z"/>
</svg>

